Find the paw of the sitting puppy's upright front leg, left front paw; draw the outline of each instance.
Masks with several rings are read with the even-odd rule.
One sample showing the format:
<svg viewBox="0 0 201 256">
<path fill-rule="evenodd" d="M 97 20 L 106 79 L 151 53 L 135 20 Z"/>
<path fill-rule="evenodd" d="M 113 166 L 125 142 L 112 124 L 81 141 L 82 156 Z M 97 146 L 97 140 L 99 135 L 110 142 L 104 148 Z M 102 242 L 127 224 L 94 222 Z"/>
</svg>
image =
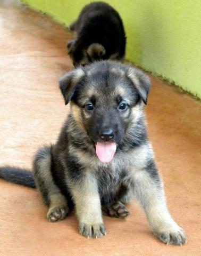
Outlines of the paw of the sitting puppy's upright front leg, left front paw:
<svg viewBox="0 0 201 256">
<path fill-rule="evenodd" d="M 105 225 L 103 223 L 79 223 L 79 233 L 86 237 L 102 237 L 106 235 Z"/>
</svg>

